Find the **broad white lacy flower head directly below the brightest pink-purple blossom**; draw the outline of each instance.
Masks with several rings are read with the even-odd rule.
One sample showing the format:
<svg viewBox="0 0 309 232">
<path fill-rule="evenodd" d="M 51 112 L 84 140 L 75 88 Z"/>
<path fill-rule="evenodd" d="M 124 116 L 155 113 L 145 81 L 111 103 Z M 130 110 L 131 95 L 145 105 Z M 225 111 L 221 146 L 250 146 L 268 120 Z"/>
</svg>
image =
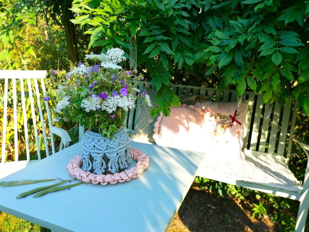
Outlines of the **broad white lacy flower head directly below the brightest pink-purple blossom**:
<svg viewBox="0 0 309 232">
<path fill-rule="evenodd" d="M 108 97 L 104 105 L 102 106 L 102 110 L 106 110 L 109 114 L 116 111 L 117 108 L 122 108 L 125 111 L 131 110 L 135 108 L 135 98 L 132 94 L 127 96 L 115 96 Z"/>
</svg>

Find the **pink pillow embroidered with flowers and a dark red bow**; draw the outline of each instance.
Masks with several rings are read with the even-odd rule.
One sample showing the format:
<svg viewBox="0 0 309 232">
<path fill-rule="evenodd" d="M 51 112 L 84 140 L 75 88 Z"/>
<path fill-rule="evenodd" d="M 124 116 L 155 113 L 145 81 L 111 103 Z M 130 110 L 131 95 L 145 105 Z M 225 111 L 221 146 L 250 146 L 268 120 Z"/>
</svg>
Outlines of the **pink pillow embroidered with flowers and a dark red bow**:
<svg viewBox="0 0 309 232">
<path fill-rule="evenodd" d="M 248 101 L 239 107 L 237 102 L 204 101 L 194 104 L 205 112 L 205 126 L 214 128 L 211 133 L 212 151 L 226 158 L 245 158 L 241 149 L 247 105 Z"/>
</svg>

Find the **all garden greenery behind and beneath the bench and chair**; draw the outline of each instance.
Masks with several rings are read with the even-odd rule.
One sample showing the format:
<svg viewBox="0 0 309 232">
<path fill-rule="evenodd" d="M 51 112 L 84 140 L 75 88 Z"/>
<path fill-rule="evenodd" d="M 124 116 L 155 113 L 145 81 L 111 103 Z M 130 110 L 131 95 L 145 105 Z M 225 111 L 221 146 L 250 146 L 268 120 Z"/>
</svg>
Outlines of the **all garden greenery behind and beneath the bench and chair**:
<svg viewBox="0 0 309 232">
<path fill-rule="evenodd" d="M 309 141 L 308 16 L 309 1 L 302 0 L 0 0 L 0 68 L 68 70 L 90 51 L 121 47 L 133 57 L 127 68 L 137 68 L 159 92 L 153 114 L 177 104 L 170 83 L 233 88 L 239 96 L 251 89 L 264 93 L 265 103 L 297 99 L 294 135 Z M 49 78 L 46 85 L 54 87 Z M 75 125 L 62 126 L 77 135 Z M 13 141 L 12 127 L 6 138 Z M 291 157 L 290 169 L 303 179 L 307 157 L 296 144 Z M 268 214 L 283 231 L 293 229 L 296 201 L 196 182 L 219 195 L 260 201 L 253 216 Z"/>
</svg>

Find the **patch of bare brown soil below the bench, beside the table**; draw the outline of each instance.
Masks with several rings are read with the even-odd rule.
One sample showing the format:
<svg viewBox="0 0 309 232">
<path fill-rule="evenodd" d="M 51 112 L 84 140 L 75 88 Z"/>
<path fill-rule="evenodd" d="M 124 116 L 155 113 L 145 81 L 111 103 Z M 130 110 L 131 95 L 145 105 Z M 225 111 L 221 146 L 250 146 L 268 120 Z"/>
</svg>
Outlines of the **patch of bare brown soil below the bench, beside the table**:
<svg viewBox="0 0 309 232">
<path fill-rule="evenodd" d="M 252 218 L 252 205 L 191 187 L 168 232 L 275 232 L 266 218 Z"/>
</svg>

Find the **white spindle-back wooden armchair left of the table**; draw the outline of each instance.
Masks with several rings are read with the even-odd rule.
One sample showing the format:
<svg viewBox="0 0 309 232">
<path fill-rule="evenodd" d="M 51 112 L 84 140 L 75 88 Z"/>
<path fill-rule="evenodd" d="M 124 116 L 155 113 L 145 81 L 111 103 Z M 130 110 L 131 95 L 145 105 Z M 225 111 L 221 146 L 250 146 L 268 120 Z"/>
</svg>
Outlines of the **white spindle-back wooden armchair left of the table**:
<svg viewBox="0 0 309 232">
<path fill-rule="evenodd" d="M 18 171 L 27 165 L 30 165 L 41 159 L 41 151 L 40 151 L 40 141 L 38 134 L 38 125 L 37 120 L 40 120 L 39 126 L 42 128 L 43 140 L 44 140 L 44 148 L 46 152 L 46 156 L 49 156 L 49 142 L 47 138 L 47 131 L 50 133 L 50 142 L 51 142 L 51 152 L 55 153 L 55 145 L 53 134 L 60 136 L 60 148 L 66 148 L 69 146 L 71 141 L 69 134 L 58 127 L 52 126 L 51 116 L 49 112 L 48 101 L 45 101 L 45 109 L 42 109 L 41 105 L 41 96 L 46 96 L 44 78 L 46 77 L 46 71 L 16 71 L 16 70 L 0 70 L 0 80 L 4 79 L 4 105 L 3 105 L 3 122 L 2 122 L 2 156 L 0 159 L 0 178 L 5 177 L 15 171 Z M 14 123 L 14 153 L 15 153 L 15 161 L 6 161 L 6 132 L 7 132 L 7 123 L 8 123 L 8 89 L 9 82 L 12 84 L 12 100 L 13 100 L 13 123 Z M 26 83 L 26 87 L 28 86 L 28 91 L 24 87 L 24 82 Z M 20 92 L 17 92 L 16 86 L 20 85 Z M 33 91 L 33 93 L 32 93 Z M 28 100 L 26 101 L 25 95 L 28 95 Z M 36 102 L 36 104 L 35 104 Z M 17 111 L 17 104 L 21 105 L 22 110 Z M 29 108 L 29 109 L 27 109 Z M 28 118 L 27 113 L 29 114 L 31 111 L 34 136 L 36 141 L 36 150 L 38 160 L 31 160 L 30 151 L 29 151 L 29 128 L 28 128 Z M 9 112 L 10 113 L 10 112 Z M 20 119 L 18 119 L 18 113 L 20 114 Z M 45 114 L 44 114 L 45 113 Z M 23 117 L 21 117 L 21 115 Z M 10 117 L 11 118 L 11 117 Z M 18 157 L 18 143 L 21 142 L 18 140 L 18 120 L 23 118 L 24 127 L 24 138 L 25 138 L 25 146 L 27 153 L 27 160 L 19 161 Z M 48 119 L 47 125 L 45 125 L 45 118 Z M 12 118 L 10 119 L 12 120 Z M 31 120 L 31 119 L 30 119 Z M 49 128 L 49 130 L 47 130 Z M 41 148 L 43 144 L 41 144 Z"/>
</svg>

